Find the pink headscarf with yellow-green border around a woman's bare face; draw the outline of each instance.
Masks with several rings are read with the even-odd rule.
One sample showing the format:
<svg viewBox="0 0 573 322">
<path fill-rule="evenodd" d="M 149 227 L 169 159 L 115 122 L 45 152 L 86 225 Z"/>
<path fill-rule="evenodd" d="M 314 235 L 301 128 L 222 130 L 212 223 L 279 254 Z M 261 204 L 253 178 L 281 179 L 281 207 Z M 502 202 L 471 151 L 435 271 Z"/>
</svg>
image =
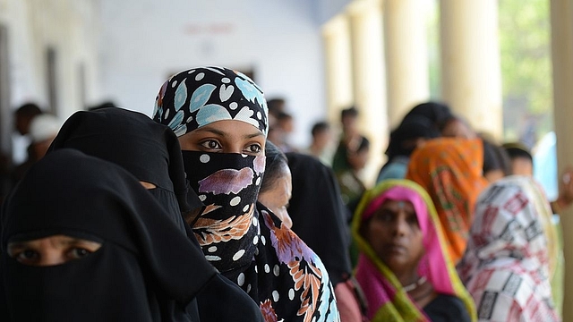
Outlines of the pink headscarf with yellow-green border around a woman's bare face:
<svg viewBox="0 0 573 322">
<path fill-rule="evenodd" d="M 409 201 L 415 208 L 425 249 L 418 265 L 418 275 L 425 276 L 436 292 L 457 296 L 464 301 L 470 316 L 475 317 L 471 297 L 461 284 L 445 251 L 445 239 L 432 199 L 418 184 L 408 180 L 381 182 L 364 194 L 355 212 L 352 232 L 361 251 L 355 275 L 368 301 L 368 317 L 405 321 L 427 320 L 422 309 L 418 308 L 403 290 L 396 275 L 376 256 L 370 244 L 360 234 L 363 222 L 386 200 Z"/>
</svg>

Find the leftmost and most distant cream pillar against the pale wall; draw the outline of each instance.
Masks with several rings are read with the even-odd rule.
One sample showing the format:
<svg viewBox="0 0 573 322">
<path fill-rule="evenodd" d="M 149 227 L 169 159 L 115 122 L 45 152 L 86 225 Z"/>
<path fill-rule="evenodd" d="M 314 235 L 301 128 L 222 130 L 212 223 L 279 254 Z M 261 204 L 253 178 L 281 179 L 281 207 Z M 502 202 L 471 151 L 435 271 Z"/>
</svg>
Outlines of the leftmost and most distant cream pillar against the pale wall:
<svg viewBox="0 0 573 322">
<path fill-rule="evenodd" d="M 322 29 L 329 122 L 340 123 L 340 111 L 354 102 L 350 29 L 344 14 Z"/>
</svg>

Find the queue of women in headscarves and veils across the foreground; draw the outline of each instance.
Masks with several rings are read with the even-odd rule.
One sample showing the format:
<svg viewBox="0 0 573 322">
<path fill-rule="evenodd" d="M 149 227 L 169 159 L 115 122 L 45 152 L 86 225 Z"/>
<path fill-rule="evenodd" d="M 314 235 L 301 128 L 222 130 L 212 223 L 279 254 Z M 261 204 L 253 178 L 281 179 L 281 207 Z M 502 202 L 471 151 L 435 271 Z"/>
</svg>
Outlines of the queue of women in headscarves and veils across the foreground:
<svg viewBox="0 0 573 322">
<path fill-rule="evenodd" d="M 0 320 L 560 321 L 543 190 L 488 182 L 442 110 L 411 112 L 423 144 L 394 132 L 349 231 L 336 175 L 267 141 L 240 72 L 173 75 L 152 118 L 77 112 L 4 200 Z"/>
</svg>

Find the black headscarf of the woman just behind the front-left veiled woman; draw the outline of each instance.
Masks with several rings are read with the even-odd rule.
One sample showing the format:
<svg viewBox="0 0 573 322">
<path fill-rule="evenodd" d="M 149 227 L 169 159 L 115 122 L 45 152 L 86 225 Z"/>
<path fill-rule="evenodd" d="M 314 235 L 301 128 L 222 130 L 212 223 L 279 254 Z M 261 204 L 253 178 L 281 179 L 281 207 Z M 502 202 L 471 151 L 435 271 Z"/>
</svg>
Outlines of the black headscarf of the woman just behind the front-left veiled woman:
<svg viewBox="0 0 573 322">
<path fill-rule="evenodd" d="M 123 108 L 100 108 L 76 112 L 66 120 L 49 151 L 76 148 L 124 167 L 150 190 L 172 219 L 184 230 L 181 212 L 201 208 L 194 191 L 188 189 L 177 137 L 167 126 L 150 117 Z M 189 195 L 188 195 L 189 194 Z"/>
</svg>

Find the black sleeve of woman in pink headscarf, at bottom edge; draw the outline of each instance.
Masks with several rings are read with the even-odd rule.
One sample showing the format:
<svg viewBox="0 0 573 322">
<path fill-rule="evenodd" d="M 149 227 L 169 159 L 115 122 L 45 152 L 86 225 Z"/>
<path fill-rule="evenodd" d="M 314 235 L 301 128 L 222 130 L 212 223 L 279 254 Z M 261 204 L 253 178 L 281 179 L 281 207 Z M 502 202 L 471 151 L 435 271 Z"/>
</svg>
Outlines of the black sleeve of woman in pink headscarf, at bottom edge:
<svg viewBox="0 0 573 322">
<path fill-rule="evenodd" d="M 455 296 L 439 294 L 423 307 L 432 322 L 471 322 L 464 302 Z"/>
</svg>

